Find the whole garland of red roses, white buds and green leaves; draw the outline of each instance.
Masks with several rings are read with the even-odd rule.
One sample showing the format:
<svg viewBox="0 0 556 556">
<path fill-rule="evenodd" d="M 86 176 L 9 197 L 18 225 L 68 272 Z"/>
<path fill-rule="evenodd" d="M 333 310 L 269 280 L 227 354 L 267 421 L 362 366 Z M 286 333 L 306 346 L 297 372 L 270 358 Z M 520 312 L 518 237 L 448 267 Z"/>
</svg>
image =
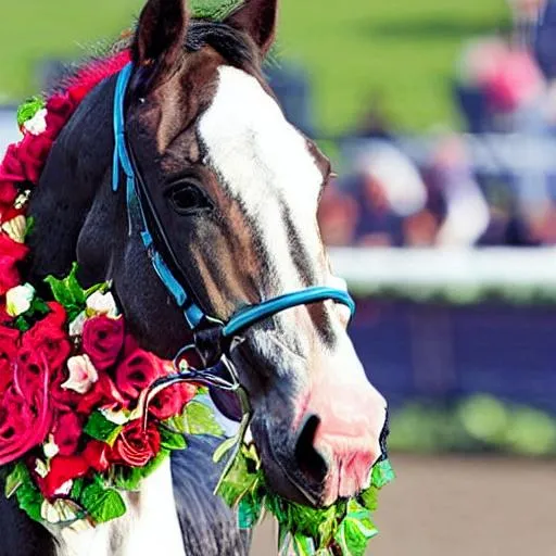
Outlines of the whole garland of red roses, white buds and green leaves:
<svg viewBox="0 0 556 556">
<path fill-rule="evenodd" d="M 28 199 L 58 135 L 87 93 L 128 61 L 124 50 L 93 62 L 63 92 L 25 103 L 23 139 L 0 165 L 0 472 L 5 495 L 30 518 L 75 530 L 124 515 L 121 491 L 138 490 L 173 450 L 187 447 L 184 433 L 223 435 L 197 399 L 205 392 L 191 384 L 159 393 L 143 419 L 142 394 L 175 369 L 139 348 L 108 283 L 84 290 L 74 265 L 63 279 L 47 278 L 55 300 L 47 302 L 17 269 L 33 229 Z M 394 477 L 390 463 L 375 466 L 357 497 L 326 509 L 294 504 L 267 486 L 244 439 L 249 418 L 214 455 L 232 451 L 216 493 L 237 510 L 238 526 L 252 529 L 269 511 L 281 554 L 363 556 L 378 532 L 378 491 Z"/>
</svg>

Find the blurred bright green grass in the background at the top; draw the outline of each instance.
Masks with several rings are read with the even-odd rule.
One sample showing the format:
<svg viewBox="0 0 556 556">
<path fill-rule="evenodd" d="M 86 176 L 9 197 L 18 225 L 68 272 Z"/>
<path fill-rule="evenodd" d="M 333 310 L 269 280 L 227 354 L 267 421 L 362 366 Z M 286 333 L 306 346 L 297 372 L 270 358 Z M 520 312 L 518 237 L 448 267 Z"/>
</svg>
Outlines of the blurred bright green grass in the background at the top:
<svg viewBox="0 0 556 556">
<path fill-rule="evenodd" d="M 142 0 L 3 0 L 0 99 L 36 91 L 36 63 L 129 25 Z M 282 0 L 279 52 L 303 63 L 326 131 L 356 125 L 379 92 L 393 121 L 457 126 L 450 79 L 462 43 L 507 26 L 506 0 Z"/>
</svg>

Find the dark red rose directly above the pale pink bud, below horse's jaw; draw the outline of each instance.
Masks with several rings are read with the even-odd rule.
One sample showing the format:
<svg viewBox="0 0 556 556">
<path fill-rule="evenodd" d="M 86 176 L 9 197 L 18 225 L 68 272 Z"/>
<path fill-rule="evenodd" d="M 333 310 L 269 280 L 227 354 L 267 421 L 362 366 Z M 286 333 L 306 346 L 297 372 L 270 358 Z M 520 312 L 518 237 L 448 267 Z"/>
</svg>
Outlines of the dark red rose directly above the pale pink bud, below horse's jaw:
<svg viewBox="0 0 556 556">
<path fill-rule="evenodd" d="M 85 323 L 83 348 L 97 370 L 105 370 L 114 365 L 123 344 L 124 319 L 102 315 Z"/>
</svg>

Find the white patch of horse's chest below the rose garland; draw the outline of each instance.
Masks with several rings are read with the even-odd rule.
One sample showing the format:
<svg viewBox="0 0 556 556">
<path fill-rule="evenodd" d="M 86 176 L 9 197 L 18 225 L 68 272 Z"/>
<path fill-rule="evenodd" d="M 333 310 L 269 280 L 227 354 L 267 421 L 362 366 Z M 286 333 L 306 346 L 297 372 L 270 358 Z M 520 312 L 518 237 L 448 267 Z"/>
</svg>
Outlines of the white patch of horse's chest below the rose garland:
<svg viewBox="0 0 556 556">
<path fill-rule="evenodd" d="M 138 493 L 125 493 L 126 515 L 83 532 L 56 535 L 58 556 L 185 556 L 176 513 L 169 458 L 144 480 Z"/>
</svg>

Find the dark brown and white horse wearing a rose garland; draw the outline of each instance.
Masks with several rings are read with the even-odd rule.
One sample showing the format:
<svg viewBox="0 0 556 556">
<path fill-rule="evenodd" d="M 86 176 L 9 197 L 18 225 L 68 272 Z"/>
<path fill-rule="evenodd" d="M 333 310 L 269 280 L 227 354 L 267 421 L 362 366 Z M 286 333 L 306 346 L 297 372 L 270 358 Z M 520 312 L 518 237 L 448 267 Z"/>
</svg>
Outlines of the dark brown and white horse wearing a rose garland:
<svg viewBox="0 0 556 556">
<path fill-rule="evenodd" d="M 285 292 L 338 285 L 316 218 L 331 164 L 287 122 L 263 76 L 277 12 L 277 0 L 245 0 L 215 22 L 191 18 L 186 0 L 148 0 L 119 47 L 132 62 L 123 110 L 137 170 L 190 293 L 223 323 Z M 77 261 L 84 285 L 112 283 L 141 346 L 172 358 L 194 338 L 128 218 L 125 191 L 111 187 L 117 86 L 117 75 L 98 85 L 49 154 L 29 205 L 26 275 L 38 285 Z M 298 303 L 251 323 L 229 353 L 268 484 L 314 507 L 368 486 L 383 455 L 387 404 L 349 319 L 333 299 Z M 47 530 L 2 498 L 0 554 L 247 554 L 249 539 L 213 495 L 215 442 L 190 439 L 126 494 L 125 517 L 91 531 Z"/>
</svg>

